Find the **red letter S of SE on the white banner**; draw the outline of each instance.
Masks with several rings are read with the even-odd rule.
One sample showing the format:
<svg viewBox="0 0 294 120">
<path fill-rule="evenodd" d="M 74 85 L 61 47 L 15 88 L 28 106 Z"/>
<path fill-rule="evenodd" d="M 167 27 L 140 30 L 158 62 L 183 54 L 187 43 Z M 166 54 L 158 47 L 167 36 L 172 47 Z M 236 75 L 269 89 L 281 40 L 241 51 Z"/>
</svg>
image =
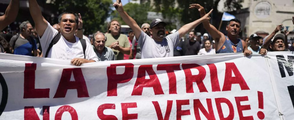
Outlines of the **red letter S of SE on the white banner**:
<svg viewBox="0 0 294 120">
<path fill-rule="evenodd" d="M 116 116 L 113 115 L 105 115 L 103 113 L 106 109 L 116 109 L 115 104 L 102 104 L 97 109 L 97 115 L 101 120 L 118 120 Z"/>
</svg>

